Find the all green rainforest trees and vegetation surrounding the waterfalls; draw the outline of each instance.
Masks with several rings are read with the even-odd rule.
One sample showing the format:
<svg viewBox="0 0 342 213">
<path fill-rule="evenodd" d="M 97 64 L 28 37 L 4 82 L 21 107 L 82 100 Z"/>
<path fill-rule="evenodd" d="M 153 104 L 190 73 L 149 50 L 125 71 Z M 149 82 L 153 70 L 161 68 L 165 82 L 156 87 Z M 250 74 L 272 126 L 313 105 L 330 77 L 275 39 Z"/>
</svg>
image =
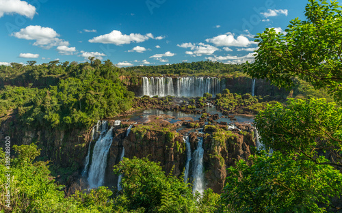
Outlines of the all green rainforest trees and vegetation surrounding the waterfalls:
<svg viewBox="0 0 342 213">
<path fill-rule="evenodd" d="M 116 68 L 91 58 L 0 66 L 1 119 L 12 114 L 23 125 L 46 130 L 89 128 L 131 109 L 133 93 L 122 75 L 249 76 L 299 96 L 256 110 L 265 149 L 228 168 L 221 195 L 211 189 L 193 195 L 183 177 L 164 173 L 147 158 L 124 158 L 114 167 L 123 173 L 120 191 L 100 187 L 68 194 L 55 182 L 49 162 L 36 160 L 36 144 L 14 145 L 11 209 L 5 207 L 7 173 L 1 163 L 0 212 L 341 212 L 342 10 L 337 1 L 309 0 L 305 16 L 291 20 L 286 35 L 274 29 L 259 33 L 256 59 L 244 65 L 200 61 Z M 259 101 L 247 96 L 224 91 L 216 104 L 230 109 L 239 101 Z M 5 152 L 0 159 L 8 160 Z"/>
</svg>

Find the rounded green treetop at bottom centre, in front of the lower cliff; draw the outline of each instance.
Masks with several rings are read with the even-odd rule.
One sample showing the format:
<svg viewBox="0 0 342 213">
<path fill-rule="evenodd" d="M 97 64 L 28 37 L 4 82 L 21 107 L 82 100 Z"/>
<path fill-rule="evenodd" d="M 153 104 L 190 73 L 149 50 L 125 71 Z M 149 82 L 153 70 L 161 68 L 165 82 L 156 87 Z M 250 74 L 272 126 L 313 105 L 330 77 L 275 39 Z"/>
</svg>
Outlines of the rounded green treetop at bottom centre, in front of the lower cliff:
<svg viewBox="0 0 342 213">
<path fill-rule="evenodd" d="M 192 194 L 183 177 L 166 175 L 148 158 L 124 158 L 114 166 L 123 174 L 122 194 L 114 199 L 116 212 L 214 212 L 219 196 L 206 190 L 202 197 Z"/>
</svg>

